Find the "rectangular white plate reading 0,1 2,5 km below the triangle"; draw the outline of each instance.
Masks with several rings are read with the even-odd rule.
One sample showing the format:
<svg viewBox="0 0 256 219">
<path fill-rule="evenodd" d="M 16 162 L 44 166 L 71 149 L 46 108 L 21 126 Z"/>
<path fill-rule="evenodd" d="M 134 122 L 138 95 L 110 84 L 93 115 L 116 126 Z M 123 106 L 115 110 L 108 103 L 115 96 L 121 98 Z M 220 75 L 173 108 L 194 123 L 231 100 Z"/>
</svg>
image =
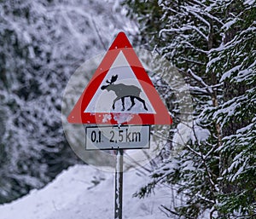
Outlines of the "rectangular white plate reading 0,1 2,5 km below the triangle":
<svg viewBox="0 0 256 219">
<path fill-rule="evenodd" d="M 88 126 L 86 150 L 149 148 L 150 125 Z"/>
</svg>

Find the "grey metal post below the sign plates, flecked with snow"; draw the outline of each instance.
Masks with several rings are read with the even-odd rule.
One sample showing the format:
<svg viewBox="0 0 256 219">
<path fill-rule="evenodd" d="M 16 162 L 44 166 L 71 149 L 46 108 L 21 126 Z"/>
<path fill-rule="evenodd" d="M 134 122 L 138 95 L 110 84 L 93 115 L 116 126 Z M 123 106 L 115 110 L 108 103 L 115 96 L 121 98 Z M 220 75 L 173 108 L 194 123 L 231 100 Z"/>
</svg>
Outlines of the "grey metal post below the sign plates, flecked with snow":
<svg viewBox="0 0 256 219">
<path fill-rule="evenodd" d="M 114 187 L 114 219 L 122 219 L 123 209 L 123 149 L 116 154 L 115 187 Z"/>
</svg>

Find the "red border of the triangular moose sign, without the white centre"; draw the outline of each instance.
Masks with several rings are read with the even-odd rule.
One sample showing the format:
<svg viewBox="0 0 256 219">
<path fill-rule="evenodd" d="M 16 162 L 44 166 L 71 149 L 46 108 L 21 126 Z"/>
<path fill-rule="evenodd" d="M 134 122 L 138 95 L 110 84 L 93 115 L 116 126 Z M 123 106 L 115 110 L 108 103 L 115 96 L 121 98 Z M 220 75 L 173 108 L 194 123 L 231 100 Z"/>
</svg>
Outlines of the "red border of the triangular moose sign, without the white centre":
<svg viewBox="0 0 256 219">
<path fill-rule="evenodd" d="M 107 54 L 104 56 L 102 63 L 96 69 L 90 83 L 84 89 L 83 94 L 80 96 L 79 101 L 73 107 L 73 110 L 67 117 L 68 123 L 72 124 L 118 124 L 114 117 L 119 116 L 119 114 L 124 114 L 121 112 L 84 112 L 84 109 L 89 105 L 90 100 L 96 93 L 96 90 L 102 84 L 102 80 L 105 78 L 108 70 L 113 65 L 113 62 L 122 51 L 125 55 L 126 60 L 131 66 L 132 71 L 136 75 L 138 81 L 143 87 L 144 92 L 148 96 L 148 100 L 151 102 L 152 107 L 154 107 L 155 114 L 153 113 L 126 113 L 131 114 L 132 118 L 129 122 L 123 124 L 172 124 L 172 118 L 167 111 L 164 103 L 160 100 L 160 95 L 154 89 L 147 72 L 143 68 L 141 61 L 139 61 L 137 54 L 131 46 L 125 32 L 119 32 L 117 37 L 114 39 Z M 111 115 L 111 119 L 102 122 L 103 115 Z"/>
</svg>

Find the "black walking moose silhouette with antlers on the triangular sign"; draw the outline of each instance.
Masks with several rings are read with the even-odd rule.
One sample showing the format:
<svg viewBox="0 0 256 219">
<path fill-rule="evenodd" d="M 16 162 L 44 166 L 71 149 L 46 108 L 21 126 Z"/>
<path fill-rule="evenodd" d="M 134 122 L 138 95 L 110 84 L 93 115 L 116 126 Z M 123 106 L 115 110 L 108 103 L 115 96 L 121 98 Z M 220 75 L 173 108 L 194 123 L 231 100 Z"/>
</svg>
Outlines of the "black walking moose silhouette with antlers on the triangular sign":
<svg viewBox="0 0 256 219">
<path fill-rule="evenodd" d="M 114 110 L 114 104 L 116 101 L 121 99 L 122 101 L 122 111 L 125 110 L 125 97 L 130 97 L 131 107 L 127 110 L 130 111 L 132 107 L 135 105 L 135 99 L 141 101 L 143 103 L 143 107 L 146 111 L 148 108 L 146 107 L 145 101 L 140 97 L 140 93 L 142 90 L 135 85 L 126 85 L 126 84 L 113 84 L 118 78 L 118 75 L 113 75 L 110 81 L 106 81 L 107 85 L 102 85 L 101 89 L 107 89 L 108 91 L 112 90 L 117 97 L 113 100 L 112 108 Z"/>
</svg>

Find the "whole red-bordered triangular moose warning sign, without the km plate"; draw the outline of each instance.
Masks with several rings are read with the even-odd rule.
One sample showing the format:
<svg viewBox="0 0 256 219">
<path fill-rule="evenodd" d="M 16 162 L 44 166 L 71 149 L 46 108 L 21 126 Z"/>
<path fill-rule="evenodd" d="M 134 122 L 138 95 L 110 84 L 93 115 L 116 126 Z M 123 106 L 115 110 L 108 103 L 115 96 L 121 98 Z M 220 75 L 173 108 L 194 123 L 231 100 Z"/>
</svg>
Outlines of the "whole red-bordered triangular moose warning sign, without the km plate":
<svg viewBox="0 0 256 219">
<path fill-rule="evenodd" d="M 70 112 L 73 124 L 172 124 L 124 32 L 119 32 Z"/>
</svg>

